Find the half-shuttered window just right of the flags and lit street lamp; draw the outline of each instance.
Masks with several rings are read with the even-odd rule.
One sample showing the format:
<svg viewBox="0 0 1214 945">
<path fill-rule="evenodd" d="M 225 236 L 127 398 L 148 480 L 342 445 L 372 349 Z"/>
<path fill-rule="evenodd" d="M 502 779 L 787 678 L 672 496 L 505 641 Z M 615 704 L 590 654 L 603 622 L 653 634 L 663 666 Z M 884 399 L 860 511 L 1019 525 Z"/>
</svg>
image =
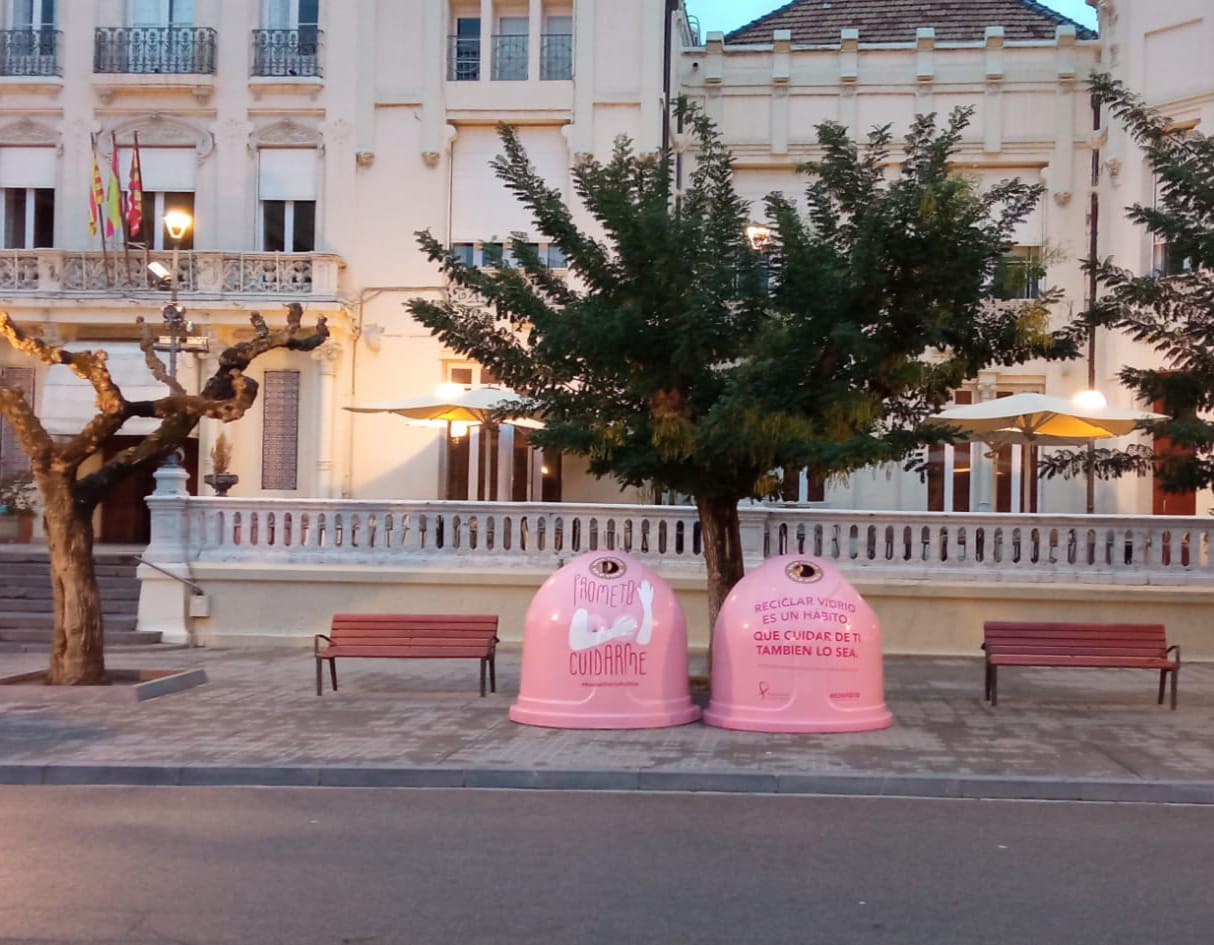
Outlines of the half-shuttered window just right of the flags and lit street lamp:
<svg viewBox="0 0 1214 945">
<path fill-rule="evenodd" d="M 257 189 L 259 241 L 266 253 L 316 250 L 316 148 L 262 148 Z"/>
</svg>

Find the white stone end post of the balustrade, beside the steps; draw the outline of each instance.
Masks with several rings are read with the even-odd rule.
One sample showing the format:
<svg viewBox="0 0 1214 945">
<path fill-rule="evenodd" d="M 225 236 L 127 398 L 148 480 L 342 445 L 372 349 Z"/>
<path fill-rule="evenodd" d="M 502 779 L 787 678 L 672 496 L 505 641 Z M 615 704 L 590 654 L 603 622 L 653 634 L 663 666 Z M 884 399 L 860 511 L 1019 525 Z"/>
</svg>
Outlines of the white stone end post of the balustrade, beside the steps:
<svg viewBox="0 0 1214 945">
<path fill-rule="evenodd" d="M 140 579 L 140 630 L 159 630 L 170 644 L 191 641 L 189 624 L 189 474 L 177 464 L 155 471 L 155 491 L 146 502 L 152 513 L 152 541 L 136 570 Z"/>
</svg>

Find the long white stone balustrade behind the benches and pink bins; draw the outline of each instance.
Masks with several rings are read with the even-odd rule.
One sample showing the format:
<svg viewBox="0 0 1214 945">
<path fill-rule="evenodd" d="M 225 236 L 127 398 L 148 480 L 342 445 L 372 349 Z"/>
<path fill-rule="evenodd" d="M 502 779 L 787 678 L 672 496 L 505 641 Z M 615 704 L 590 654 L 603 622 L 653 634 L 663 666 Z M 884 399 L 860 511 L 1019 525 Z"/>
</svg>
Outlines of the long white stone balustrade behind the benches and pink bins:
<svg viewBox="0 0 1214 945">
<path fill-rule="evenodd" d="M 154 504 L 154 503 L 153 503 Z M 473 560 L 556 568 L 590 550 L 703 571 L 696 509 L 578 503 L 192 498 L 194 561 L 401 566 Z M 154 511 L 155 514 L 155 511 Z M 785 553 L 856 577 L 1209 584 L 1214 520 L 1162 516 L 851 511 L 744 505 L 748 564 Z"/>
</svg>

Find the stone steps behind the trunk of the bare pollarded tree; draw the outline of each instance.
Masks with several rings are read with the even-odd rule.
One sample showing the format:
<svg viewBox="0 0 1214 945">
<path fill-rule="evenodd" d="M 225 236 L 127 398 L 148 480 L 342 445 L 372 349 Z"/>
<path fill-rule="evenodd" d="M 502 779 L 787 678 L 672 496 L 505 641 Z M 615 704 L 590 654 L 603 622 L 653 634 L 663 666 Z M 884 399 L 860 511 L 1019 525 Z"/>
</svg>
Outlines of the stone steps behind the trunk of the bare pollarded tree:
<svg viewBox="0 0 1214 945">
<path fill-rule="evenodd" d="M 140 582 L 131 551 L 93 553 L 101 589 L 106 646 L 160 643 L 160 634 L 137 632 Z M 38 650 L 51 645 L 55 605 L 50 555 L 39 545 L 0 548 L 0 650 Z"/>
</svg>

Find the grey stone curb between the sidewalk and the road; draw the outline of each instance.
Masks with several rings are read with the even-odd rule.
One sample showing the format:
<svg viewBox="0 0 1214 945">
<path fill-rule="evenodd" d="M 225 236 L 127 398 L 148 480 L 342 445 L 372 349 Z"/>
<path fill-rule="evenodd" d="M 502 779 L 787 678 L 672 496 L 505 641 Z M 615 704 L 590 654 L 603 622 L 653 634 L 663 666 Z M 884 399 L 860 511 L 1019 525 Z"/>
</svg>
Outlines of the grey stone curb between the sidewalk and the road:
<svg viewBox="0 0 1214 945">
<path fill-rule="evenodd" d="M 994 775 L 907 776 L 880 773 L 835 775 L 692 769 L 2 764 L 0 765 L 0 785 L 467 787 L 1214 804 L 1214 781 L 1136 781 Z"/>
</svg>

